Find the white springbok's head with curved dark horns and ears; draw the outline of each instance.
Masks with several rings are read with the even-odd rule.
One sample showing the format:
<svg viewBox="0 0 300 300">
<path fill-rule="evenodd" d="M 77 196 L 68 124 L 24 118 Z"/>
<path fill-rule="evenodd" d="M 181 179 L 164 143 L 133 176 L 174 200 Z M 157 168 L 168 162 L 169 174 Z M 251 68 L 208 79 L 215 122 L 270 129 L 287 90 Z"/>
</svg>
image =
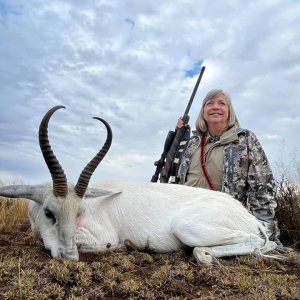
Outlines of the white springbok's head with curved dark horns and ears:
<svg viewBox="0 0 300 300">
<path fill-rule="evenodd" d="M 51 149 L 48 139 L 48 123 L 51 116 L 62 105 L 50 109 L 44 116 L 39 127 L 39 144 L 52 176 L 53 185 L 13 185 L 0 189 L 0 195 L 10 198 L 26 198 L 35 201 L 31 205 L 30 220 L 33 231 L 38 228 L 38 234 L 44 245 L 51 251 L 52 257 L 64 257 L 78 260 L 79 254 L 75 242 L 76 220 L 82 213 L 82 199 L 103 196 L 101 189 L 89 189 L 90 178 L 108 152 L 112 142 L 112 131 L 109 124 L 101 119 L 107 129 L 104 145 L 96 156 L 81 172 L 76 185 L 67 183 L 67 178 L 59 161 Z"/>
</svg>

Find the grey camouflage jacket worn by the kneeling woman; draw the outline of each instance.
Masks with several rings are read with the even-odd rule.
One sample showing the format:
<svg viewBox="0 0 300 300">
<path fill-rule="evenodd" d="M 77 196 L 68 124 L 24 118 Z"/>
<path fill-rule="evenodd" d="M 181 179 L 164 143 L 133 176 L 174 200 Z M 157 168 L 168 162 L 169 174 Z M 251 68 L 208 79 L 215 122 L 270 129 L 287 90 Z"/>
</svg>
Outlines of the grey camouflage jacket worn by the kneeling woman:
<svg viewBox="0 0 300 300">
<path fill-rule="evenodd" d="M 200 146 L 201 135 L 194 132 L 183 154 L 179 184 L 185 184 L 191 157 Z M 232 195 L 267 227 L 270 240 L 282 246 L 275 218 L 276 183 L 265 152 L 255 134 L 237 129 L 238 140 L 224 146 L 222 192 Z"/>
</svg>

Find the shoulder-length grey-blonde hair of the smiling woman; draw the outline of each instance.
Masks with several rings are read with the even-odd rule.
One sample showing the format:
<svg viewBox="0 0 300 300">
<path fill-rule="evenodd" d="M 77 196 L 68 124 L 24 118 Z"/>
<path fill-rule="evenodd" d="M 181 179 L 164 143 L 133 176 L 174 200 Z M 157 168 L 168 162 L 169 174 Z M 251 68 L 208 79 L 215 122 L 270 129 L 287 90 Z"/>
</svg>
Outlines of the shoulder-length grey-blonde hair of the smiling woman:
<svg viewBox="0 0 300 300">
<path fill-rule="evenodd" d="M 203 99 L 203 102 L 202 102 L 202 106 L 201 106 L 201 109 L 200 109 L 200 113 L 199 113 L 199 116 L 196 120 L 196 129 L 197 131 L 199 132 L 207 132 L 207 124 L 206 124 L 206 121 L 204 120 L 204 106 L 205 106 L 205 103 L 208 101 L 208 100 L 211 100 L 213 98 L 215 98 L 216 96 L 219 96 L 219 95 L 223 95 L 228 103 L 228 107 L 229 107 L 229 118 L 228 118 L 228 128 L 231 128 L 233 126 L 237 126 L 239 127 L 239 121 L 237 119 L 237 116 L 235 114 L 235 111 L 234 111 L 234 108 L 232 106 L 232 102 L 231 102 L 231 97 L 228 93 L 224 92 L 223 90 L 221 89 L 214 89 L 214 90 L 211 90 L 207 93 L 207 95 L 205 96 L 205 98 Z"/>
</svg>

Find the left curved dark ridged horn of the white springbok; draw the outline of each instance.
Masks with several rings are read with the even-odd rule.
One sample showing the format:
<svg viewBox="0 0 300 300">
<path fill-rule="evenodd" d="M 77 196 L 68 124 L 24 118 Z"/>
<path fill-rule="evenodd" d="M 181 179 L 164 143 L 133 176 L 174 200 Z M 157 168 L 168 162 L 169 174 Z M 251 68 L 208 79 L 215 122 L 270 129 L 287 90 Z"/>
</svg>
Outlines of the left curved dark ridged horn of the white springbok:
<svg viewBox="0 0 300 300">
<path fill-rule="evenodd" d="M 53 181 L 53 194 L 55 196 L 65 197 L 68 193 L 67 177 L 64 173 L 63 168 L 59 164 L 59 161 L 54 155 L 48 139 L 49 120 L 53 115 L 53 113 L 60 108 L 65 108 L 65 106 L 63 105 L 55 106 L 45 114 L 39 128 L 39 143 L 40 143 L 40 148 L 42 150 L 45 162 L 51 173 L 51 177 Z"/>
</svg>

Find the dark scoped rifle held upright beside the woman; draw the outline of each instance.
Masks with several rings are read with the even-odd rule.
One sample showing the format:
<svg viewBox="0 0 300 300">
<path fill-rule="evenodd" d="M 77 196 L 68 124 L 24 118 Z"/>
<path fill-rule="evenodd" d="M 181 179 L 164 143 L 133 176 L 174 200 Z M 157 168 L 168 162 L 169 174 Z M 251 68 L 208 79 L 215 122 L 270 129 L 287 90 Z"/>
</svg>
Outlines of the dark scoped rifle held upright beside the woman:
<svg viewBox="0 0 300 300">
<path fill-rule="evenodd" d="M 180 159 L 176 158 L 176 154 L 180 151 L 181 152 L 180 156 L 181 156 L 186 146 L 186 143 L 190 138 L 190 128 L 188 126 L 190 117 L 188 113 L 192 106 L 193 100 L 195 98 L 204 71 L 205 71 L 205 67 L 203 66 L 198 76 L 193 93 L 190 97 L 190 100 L 188 102 L 188 105 L 182 117 L 184 126 L 182 128 L 176 128 L 175 132 L 171 130 L 168 132 L 164 144 L 164 149 L 160 156 L 160 159 L 154 163 L 154 165 L 156 166 L 156 170 L 154 175 L 151 178 L 151 182 L 157 182 L 159 178 L 159 181 L 161 183 L 168 183 L 170 177 L 171 177 L 171 183 L 177 183 L 178 181 L 176 178 L 176 173 L 177 173 L 177 167 L 179 166 Z"/>
</svg>

